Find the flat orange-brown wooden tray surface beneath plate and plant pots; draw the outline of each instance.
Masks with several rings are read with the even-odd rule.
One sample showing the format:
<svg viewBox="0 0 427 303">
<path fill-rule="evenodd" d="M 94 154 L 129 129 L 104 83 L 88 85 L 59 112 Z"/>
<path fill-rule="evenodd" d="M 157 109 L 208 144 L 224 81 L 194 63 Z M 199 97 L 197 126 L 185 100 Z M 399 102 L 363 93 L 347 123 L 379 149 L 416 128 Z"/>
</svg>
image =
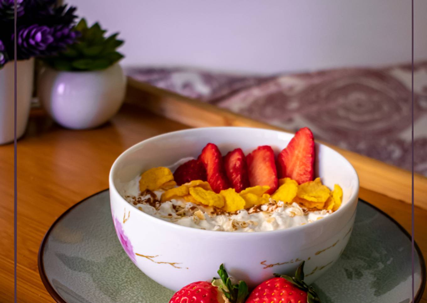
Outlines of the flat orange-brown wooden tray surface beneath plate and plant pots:
<svg viewBox="0 0 427 303">
<path fill-rule="evenodd" d="M 53 302 L 38 274 L 37 253 L 50 225 L 70 206 L 108 188 L 114 159 L 133 144 L 189 126 L 124 106 L 110 123 L 72 131 L 32 113 L 18 141 L 18 302 Z M 383 169 L 387 174 L 387 169 Z M 13 300 L 13 144 L 0 146 L 0 302 Z M 384 188 L 387 188 L 387 180 Z M 394 188 L 396 190 L 396 188 Z M 405 188 L 406 190 L 406 188 Z M 408 203 L 360 188 L 360 197 L 379 207 L 410 231 Z M 427 255 L 427 210 L 415 208 L 415 239 Z M 427 303 L 424 294 L 423 303 Z"/>
</svg>

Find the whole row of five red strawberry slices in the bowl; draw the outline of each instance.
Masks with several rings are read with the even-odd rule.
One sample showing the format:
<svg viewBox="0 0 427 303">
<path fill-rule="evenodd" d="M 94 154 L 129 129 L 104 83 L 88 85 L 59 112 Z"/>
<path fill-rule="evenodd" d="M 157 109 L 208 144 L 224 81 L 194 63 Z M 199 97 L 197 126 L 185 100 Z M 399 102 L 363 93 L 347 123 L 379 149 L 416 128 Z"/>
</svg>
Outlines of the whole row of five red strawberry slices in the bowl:
<svg viewBox="0 0 427 303">
<path fill-rule="evenodd" d="M 277 162 L 268 145 L 257 147 L 247 156 L 242 149 L 236 148 L 222 157 L 219 148 L 208 143 L 198 159 L 179 166 L 173 176 L 177 185 L 193 180 L 208 181 L 215 193 L 228 188 L 240 193 L 251 186 L 261 185 L 269 186 L 266 194 L 273 194 L 280 178 L 287 177 L 298 184 L 313 180 L 313 133 L 307 127 L 298 130 L 278 154 Z"/>
</svg>

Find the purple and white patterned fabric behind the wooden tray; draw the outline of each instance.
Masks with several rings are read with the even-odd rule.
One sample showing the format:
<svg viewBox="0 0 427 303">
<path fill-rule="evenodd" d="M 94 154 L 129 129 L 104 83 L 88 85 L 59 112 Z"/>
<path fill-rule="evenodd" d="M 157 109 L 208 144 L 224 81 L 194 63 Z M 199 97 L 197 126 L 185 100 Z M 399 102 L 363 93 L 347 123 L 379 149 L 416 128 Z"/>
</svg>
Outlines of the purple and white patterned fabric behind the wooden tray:
<svg viewBox="0 0 427 303">
<path fill-rule="evenodd" d="M 411 168 L 411 66 L 342 68 L 275 77 L 179 69 L 129 71 L 136 79 Z M 155 75 L 155 76 L 154 76 Z M 427 176 L 427 62 L 414 71 L 415 171 Z"/>
</svg>

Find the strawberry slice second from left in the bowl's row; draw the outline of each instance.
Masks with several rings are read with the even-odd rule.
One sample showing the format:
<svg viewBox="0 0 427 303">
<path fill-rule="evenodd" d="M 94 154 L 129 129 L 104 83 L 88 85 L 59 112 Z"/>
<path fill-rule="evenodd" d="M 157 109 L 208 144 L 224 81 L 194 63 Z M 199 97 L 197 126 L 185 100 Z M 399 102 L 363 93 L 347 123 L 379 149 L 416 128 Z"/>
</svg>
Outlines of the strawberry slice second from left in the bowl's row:
<svg viewBox="0 0 427 303">
<path fill-rule="evenodd" d="M 219 193 L 222 189 L 230 188 L 221 152 L 215 144 L 208 143 L 203 148 L 199 160 L 205 165 L 207 179 L 213 191 Z"/>
</svg>

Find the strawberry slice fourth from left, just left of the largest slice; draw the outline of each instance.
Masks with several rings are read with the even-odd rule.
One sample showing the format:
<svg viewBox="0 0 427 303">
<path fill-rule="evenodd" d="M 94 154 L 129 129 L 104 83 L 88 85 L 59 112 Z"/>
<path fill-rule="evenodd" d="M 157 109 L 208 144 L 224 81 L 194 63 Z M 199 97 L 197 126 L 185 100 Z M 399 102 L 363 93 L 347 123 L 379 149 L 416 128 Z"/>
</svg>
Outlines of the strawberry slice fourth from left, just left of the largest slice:
<svg viewBox="0 0 427 303">
<path fill-rule="evenodd" d="M 274 152 L 268 145 L 258 146 L 256 150 L 246 156 L 251 186 L 268 185 L 266 192 L 272 194 L 278 186 L 277 171 L 274 161 Z"/>
</svg>

